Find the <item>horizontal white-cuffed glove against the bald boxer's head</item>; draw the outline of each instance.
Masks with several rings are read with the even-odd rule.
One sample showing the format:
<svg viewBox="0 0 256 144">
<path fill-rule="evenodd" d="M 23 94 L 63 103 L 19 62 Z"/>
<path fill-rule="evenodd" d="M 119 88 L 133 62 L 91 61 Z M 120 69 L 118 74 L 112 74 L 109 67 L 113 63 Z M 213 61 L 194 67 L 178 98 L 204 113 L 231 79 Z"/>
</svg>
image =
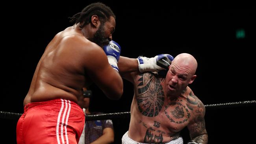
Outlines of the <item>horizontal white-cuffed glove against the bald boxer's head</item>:
<svg viewBox="0 0 256 144">
<path fill-rule="evenodd" d="M 161 70 L 169 70 L 173 56 L 169 54 L 160 54 L 151 58 L 139 56 L 137 60 L 139 63 L 139 72 L 148 71 L 158 73 Z"/>
</svg>

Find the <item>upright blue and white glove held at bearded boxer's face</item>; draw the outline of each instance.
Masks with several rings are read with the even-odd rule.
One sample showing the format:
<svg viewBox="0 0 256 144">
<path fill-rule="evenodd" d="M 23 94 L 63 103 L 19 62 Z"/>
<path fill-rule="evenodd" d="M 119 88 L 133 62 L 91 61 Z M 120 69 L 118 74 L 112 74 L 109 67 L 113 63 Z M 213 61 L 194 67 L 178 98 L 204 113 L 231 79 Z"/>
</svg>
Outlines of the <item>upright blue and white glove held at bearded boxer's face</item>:
<svg viewBox="0 0 256 144">
<path fill-rule="evenodd" d="M 118 72 L 117 63 L 121 53 L 121 46 L 115 41 L 110 41 L 107 46 L 103 47 L 103 50 L 108 57 L 108 63 Z"/>
</svg>

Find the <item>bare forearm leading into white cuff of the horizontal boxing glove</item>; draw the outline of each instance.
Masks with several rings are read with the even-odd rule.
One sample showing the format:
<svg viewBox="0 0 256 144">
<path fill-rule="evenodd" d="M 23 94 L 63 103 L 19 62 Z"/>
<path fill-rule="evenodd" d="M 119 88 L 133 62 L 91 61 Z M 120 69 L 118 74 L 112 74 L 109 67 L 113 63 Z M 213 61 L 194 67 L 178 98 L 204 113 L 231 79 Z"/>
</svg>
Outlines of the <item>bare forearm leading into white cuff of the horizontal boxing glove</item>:
<svg viewBox="0 0 256 144">
<path fill-rule="evenodd" d="M 132 76 L 139 73 L 137 59 L 120 56 L 117 65 L 122 78 L 125 78 L 128 81 L 132 81 Z"/>
</svg>

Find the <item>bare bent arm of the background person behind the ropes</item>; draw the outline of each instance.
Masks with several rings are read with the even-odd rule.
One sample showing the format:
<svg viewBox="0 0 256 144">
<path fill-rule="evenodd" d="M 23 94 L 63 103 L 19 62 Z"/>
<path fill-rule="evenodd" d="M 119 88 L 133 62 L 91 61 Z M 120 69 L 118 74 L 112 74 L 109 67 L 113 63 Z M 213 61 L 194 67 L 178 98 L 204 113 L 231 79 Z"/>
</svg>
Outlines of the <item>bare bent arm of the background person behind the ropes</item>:
<svg viewBox="0 0 256 144">
<path fill-rule="evenodd" d="M 111 144 L 114 142 L 114 131 L 110 127 L 103 129 L 103 134 L 91 144 Z"/>
</svg>

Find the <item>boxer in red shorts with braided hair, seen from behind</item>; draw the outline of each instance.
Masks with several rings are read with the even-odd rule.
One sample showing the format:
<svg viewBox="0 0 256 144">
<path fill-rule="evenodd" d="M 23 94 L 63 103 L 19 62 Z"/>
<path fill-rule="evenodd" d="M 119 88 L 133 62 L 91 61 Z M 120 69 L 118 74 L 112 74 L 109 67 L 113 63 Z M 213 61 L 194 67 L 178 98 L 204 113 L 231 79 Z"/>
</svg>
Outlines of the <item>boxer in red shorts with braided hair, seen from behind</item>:
<svg viewBox="0 0 256 144">
<path fill-rule="evenodd" d="M 94 82 L 112 100 L 123 93 L 120 48 L 103 50 L 115 31 L 112 10 L 93 3 L 70 21 L 75 24 L 55 35 L 37 64 L 17 123 L 17 144 L 76 144 L 85 123 L 78 105 L 82 88 Z"/>
</svg>

